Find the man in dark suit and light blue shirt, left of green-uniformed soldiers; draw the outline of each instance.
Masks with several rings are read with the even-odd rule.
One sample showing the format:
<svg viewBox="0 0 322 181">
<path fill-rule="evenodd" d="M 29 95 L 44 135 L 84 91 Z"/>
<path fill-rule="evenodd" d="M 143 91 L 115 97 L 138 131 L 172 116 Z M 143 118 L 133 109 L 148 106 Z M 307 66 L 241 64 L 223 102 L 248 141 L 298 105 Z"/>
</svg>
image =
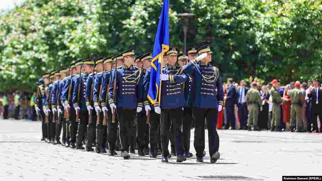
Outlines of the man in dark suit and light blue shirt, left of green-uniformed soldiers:
<svg viewBox="0 0 322 181">
<path fill-rule="evenodd" d="M 238 117 L 240 120 L 239 129 L 247 129 L 247 103 L 246 94 L 249 89 L 245 87 L 245 81 L 240 82 L 240 88 L 237 89 L 238 100 Z"/>
</svg>

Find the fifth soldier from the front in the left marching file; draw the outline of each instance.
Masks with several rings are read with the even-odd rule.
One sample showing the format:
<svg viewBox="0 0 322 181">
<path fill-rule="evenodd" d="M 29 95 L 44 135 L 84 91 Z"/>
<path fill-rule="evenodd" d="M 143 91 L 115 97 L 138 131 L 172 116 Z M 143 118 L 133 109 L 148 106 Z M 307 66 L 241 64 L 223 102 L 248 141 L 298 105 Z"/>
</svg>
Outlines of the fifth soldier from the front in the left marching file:
<svg viewBox="0 0 322 181">
<path fill-rule="evenodd" d="M 85 69 L 82 67 L 83 65 Z M 75 85 L 73 90 L 73 105 L 76 115 L 79 114 L 79 120 L 77 120 L 76 116 L 76 122 L 78 122 L 76 149 L 85 149 L 82 143 L 86 132 L 86 125 L 88 124 L 88 110 L 86 106 L 85 94 L 87 79 L 89 74 L 93 72 L 93 65 L 94 62 L 92 59 L 83 60 L 80 65 L 77 65 L 76 63 L 77 72 L 80 71 L 81 73 L 82 68 L 84 71 L 83 73 L 74 77 Z"/>
</svg>

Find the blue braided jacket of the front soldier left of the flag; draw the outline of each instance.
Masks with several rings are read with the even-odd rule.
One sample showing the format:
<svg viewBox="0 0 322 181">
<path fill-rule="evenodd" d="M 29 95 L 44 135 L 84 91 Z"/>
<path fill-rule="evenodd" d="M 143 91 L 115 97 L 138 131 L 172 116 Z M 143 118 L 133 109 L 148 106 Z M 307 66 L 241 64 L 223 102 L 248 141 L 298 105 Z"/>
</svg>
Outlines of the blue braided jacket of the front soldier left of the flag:
<svg viewBox="0 0 322 181">
<path fill-rule="evenodd" d="M 141 69 L 135 66 L 128 68 L 125 65 L 112 72 L 112 78 L 109 83 L 109 104 L 114 103 L 115 71 L 117 71 L 116 106 L 123 109 L 142 107 Z"/>
</svg>

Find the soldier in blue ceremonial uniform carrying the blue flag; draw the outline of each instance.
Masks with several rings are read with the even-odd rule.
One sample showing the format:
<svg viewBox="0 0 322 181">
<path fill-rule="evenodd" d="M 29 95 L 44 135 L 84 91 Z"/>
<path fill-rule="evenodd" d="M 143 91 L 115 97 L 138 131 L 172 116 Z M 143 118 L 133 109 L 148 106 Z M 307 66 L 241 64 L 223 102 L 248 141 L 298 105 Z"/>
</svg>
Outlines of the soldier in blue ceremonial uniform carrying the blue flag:
<svg viewBox="0 0 322 181">
<path fill-rule="evenodd" d="M 186 105 L 185 92 L 183 90 L 184 82 L 187 76 L 183 73 L 183 68 L 176 66 L 178 49 L 170 46 L 166 53 L 168 65 L 162 68 L 163 74 L 160 74 L 161 85 L 161 141 L 163 147 L 162 162 L 168 162 L 169 150 L 169 129 L 172 123 L 173 136 L 175 138 L 175 148 L 177 162 L 186 160 L 182 149 L 181 124 L 183 117 L 182 108 Z M 156 104 L 155 106 L 157 106 Z"/>
</svg>

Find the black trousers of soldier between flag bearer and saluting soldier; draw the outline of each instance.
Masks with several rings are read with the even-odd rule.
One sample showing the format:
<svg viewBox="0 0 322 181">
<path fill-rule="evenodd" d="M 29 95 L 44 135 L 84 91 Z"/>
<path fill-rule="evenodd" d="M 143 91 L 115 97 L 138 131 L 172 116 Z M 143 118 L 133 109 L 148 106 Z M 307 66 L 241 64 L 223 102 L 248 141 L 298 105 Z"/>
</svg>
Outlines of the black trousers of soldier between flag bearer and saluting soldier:
<svg viewBox="0 0 322 181">
<path fill-rule="evenodd" d="M 183 132 L 183 149 L 186 153 L 190 151 L 191 123 L 193 121 L 192 108 L 185 107 L 183 110 L 182 132 Z"/>
</svg>

